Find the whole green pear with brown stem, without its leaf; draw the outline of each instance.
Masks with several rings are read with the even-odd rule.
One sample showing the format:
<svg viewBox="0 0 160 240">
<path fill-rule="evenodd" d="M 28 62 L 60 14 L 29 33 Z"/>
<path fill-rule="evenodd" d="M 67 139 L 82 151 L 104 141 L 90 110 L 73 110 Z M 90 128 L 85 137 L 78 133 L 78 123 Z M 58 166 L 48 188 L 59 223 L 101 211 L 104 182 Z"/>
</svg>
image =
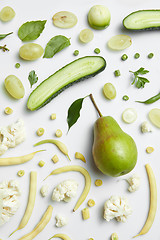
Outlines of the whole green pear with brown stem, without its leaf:
<svg viewBox="0 0 160 240">
<path fill-rule="evenodd" d="M 97 168 L 104 174 L 118 177 L 129 173 L 137 162 L 137 147 L 111 116 L 103 117 L 90 95 L 100 118 L 94 125 L 92 154 Z"/>
</svg>

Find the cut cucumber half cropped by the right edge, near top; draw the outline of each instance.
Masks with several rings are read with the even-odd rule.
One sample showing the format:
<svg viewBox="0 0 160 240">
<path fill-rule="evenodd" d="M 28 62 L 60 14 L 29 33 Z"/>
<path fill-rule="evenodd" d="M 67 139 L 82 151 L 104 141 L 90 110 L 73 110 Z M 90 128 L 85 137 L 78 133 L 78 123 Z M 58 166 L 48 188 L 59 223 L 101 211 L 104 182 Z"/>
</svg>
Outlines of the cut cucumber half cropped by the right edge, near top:
<svg viewBox="0 0 160 240">
<path fill-rule="evenodd" d="M 160 29 L 160 10 L 140 10 L 123 19 L 123 26 L 130 30 Z"/>
</svg>

